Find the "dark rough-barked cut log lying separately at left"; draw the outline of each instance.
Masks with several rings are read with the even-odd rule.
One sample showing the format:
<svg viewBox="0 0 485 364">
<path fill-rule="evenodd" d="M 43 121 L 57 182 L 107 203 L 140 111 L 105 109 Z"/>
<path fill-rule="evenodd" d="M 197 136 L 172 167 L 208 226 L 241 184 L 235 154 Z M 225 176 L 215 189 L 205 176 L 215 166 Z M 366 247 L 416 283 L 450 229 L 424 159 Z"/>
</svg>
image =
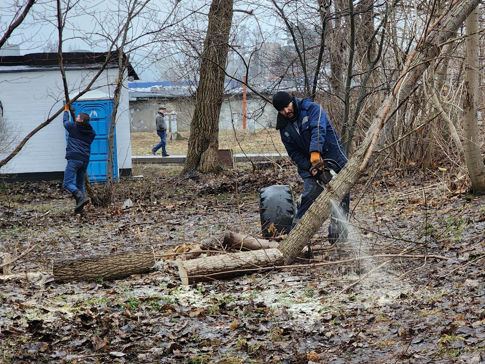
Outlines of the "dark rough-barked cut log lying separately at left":
<svg viewBox="0 0 485 364">
<path fill-rule="evenodd" d="M 110 255 L 55 260 L 54 280 L 95 281 L 116 280 L 149 271 L 155 265 L 152 249 L 120 252 Z"/>
</svg>

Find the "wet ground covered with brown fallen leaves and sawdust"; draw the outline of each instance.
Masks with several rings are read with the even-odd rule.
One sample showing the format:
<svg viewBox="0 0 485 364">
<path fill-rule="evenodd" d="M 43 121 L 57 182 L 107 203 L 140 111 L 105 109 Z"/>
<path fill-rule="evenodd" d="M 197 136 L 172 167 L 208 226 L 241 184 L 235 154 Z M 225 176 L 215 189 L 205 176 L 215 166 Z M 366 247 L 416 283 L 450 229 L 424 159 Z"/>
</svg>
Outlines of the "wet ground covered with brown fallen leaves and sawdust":
<svg viewBox="0 0 485 364">
<path fill-rule="evenodd" d="M 0 276 L 0 362 L 485 362 L 483 198 L 448 178 L 366 176 L 338 250 L 324 249 L 323 226 L 313 260 L 182 286 L 173 254 L 226 226 L 258 235 L 262 187 L 302 192 L 292 166 L 259 167 L 180 176 L 138 166 L 143 178 L 121 180 L 113 206 L 83 216 L 60 181 L 3 184 L 0 252 L 27 253 Z M 53 259 L 140 246 L 159 257 L 150 274 L 53 280 Z"/>
</svg>

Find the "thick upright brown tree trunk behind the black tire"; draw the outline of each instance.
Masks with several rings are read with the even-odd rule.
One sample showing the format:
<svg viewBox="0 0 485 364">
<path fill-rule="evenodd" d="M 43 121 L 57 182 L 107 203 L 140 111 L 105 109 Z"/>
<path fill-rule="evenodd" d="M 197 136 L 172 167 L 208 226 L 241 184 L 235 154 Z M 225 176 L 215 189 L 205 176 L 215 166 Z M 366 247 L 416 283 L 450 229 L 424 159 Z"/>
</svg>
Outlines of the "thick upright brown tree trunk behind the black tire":
<svg viewBox="0 0 485 364">
<path fill-rule="evenodd" d="M 209 10 L 196 104 L 190 124 L 187 158 L 183 172 L 220 169 L 219 114 L 224 89 L 225 66 L 232 22 L 232 0 L 214 0 Z"/>
</svg>

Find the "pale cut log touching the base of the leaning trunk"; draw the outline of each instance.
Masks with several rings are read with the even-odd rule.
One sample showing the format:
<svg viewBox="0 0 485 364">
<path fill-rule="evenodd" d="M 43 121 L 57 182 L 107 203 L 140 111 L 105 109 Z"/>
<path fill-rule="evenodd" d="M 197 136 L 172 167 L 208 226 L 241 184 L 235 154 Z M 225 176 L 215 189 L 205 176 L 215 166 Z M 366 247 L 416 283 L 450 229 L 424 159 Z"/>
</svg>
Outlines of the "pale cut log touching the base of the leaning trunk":
<svg viewBox="0 0 485 364">
<path fill-rule="evenodd" d="M 187 261 L 178 260 L 178 274 L 183 284 L 211 279 L 242 276 L 249 269 L 282 265 L 283 255 L 278 249 L 255 250 L 226 255 L 216 255 Z M 251 270 L 254 273 L 253 270 Z"/>
</svg>

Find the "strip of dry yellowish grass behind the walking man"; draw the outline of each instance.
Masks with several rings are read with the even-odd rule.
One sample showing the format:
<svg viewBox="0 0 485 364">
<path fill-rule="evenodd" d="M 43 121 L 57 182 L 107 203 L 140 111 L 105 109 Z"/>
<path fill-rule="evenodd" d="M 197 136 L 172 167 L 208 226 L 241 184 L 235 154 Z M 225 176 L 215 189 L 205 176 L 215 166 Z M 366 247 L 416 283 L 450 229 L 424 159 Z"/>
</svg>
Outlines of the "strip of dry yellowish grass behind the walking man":
<svg viewBox="0 0 485 364">
<path fill-rule="evenodd" d="M 188 148 L 188 131 L 178 134 L 181 139 L 167 140 L 167 152 L 171 155 L 186 155 Z M 131 133 L 131 154 L 134 156 L 151 155 L 152 148 L 160 142 L 156 132 Z M 240 144 L 240 146 L 239 146 Z M 232 149 L 239 153 L 286 153 L 279 131 L 275 129 L 258 129 L 254 133 L 249 130 L 220 130 L 219 149 Z"/>
</svg>

